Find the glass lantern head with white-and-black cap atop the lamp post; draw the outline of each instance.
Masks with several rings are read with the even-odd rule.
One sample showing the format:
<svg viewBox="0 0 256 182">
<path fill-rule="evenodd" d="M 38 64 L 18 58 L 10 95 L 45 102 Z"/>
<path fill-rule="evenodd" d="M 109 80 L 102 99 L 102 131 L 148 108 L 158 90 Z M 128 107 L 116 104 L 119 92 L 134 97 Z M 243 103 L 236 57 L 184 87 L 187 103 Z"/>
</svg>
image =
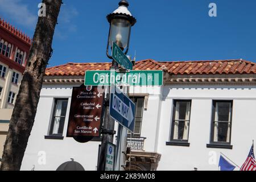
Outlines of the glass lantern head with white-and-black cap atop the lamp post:
<svg viewBox="0 0 256 182">
<path fill-rule="evenodd" d="M 125 54 L 127 54 L 129 51 L 131 27 L 136 23 L 136 19 L 127 8 L 129 3 L 122 0 L 118 5 L 118 9 L 106 17 L 110 23 L 107 46 L 107 55 L 110 59 L 112 59 L 112 56 L 109 55 L 109 46 L 112 47 L 113 42 L 122 50 L 126 48 Z"/>
</svg>

